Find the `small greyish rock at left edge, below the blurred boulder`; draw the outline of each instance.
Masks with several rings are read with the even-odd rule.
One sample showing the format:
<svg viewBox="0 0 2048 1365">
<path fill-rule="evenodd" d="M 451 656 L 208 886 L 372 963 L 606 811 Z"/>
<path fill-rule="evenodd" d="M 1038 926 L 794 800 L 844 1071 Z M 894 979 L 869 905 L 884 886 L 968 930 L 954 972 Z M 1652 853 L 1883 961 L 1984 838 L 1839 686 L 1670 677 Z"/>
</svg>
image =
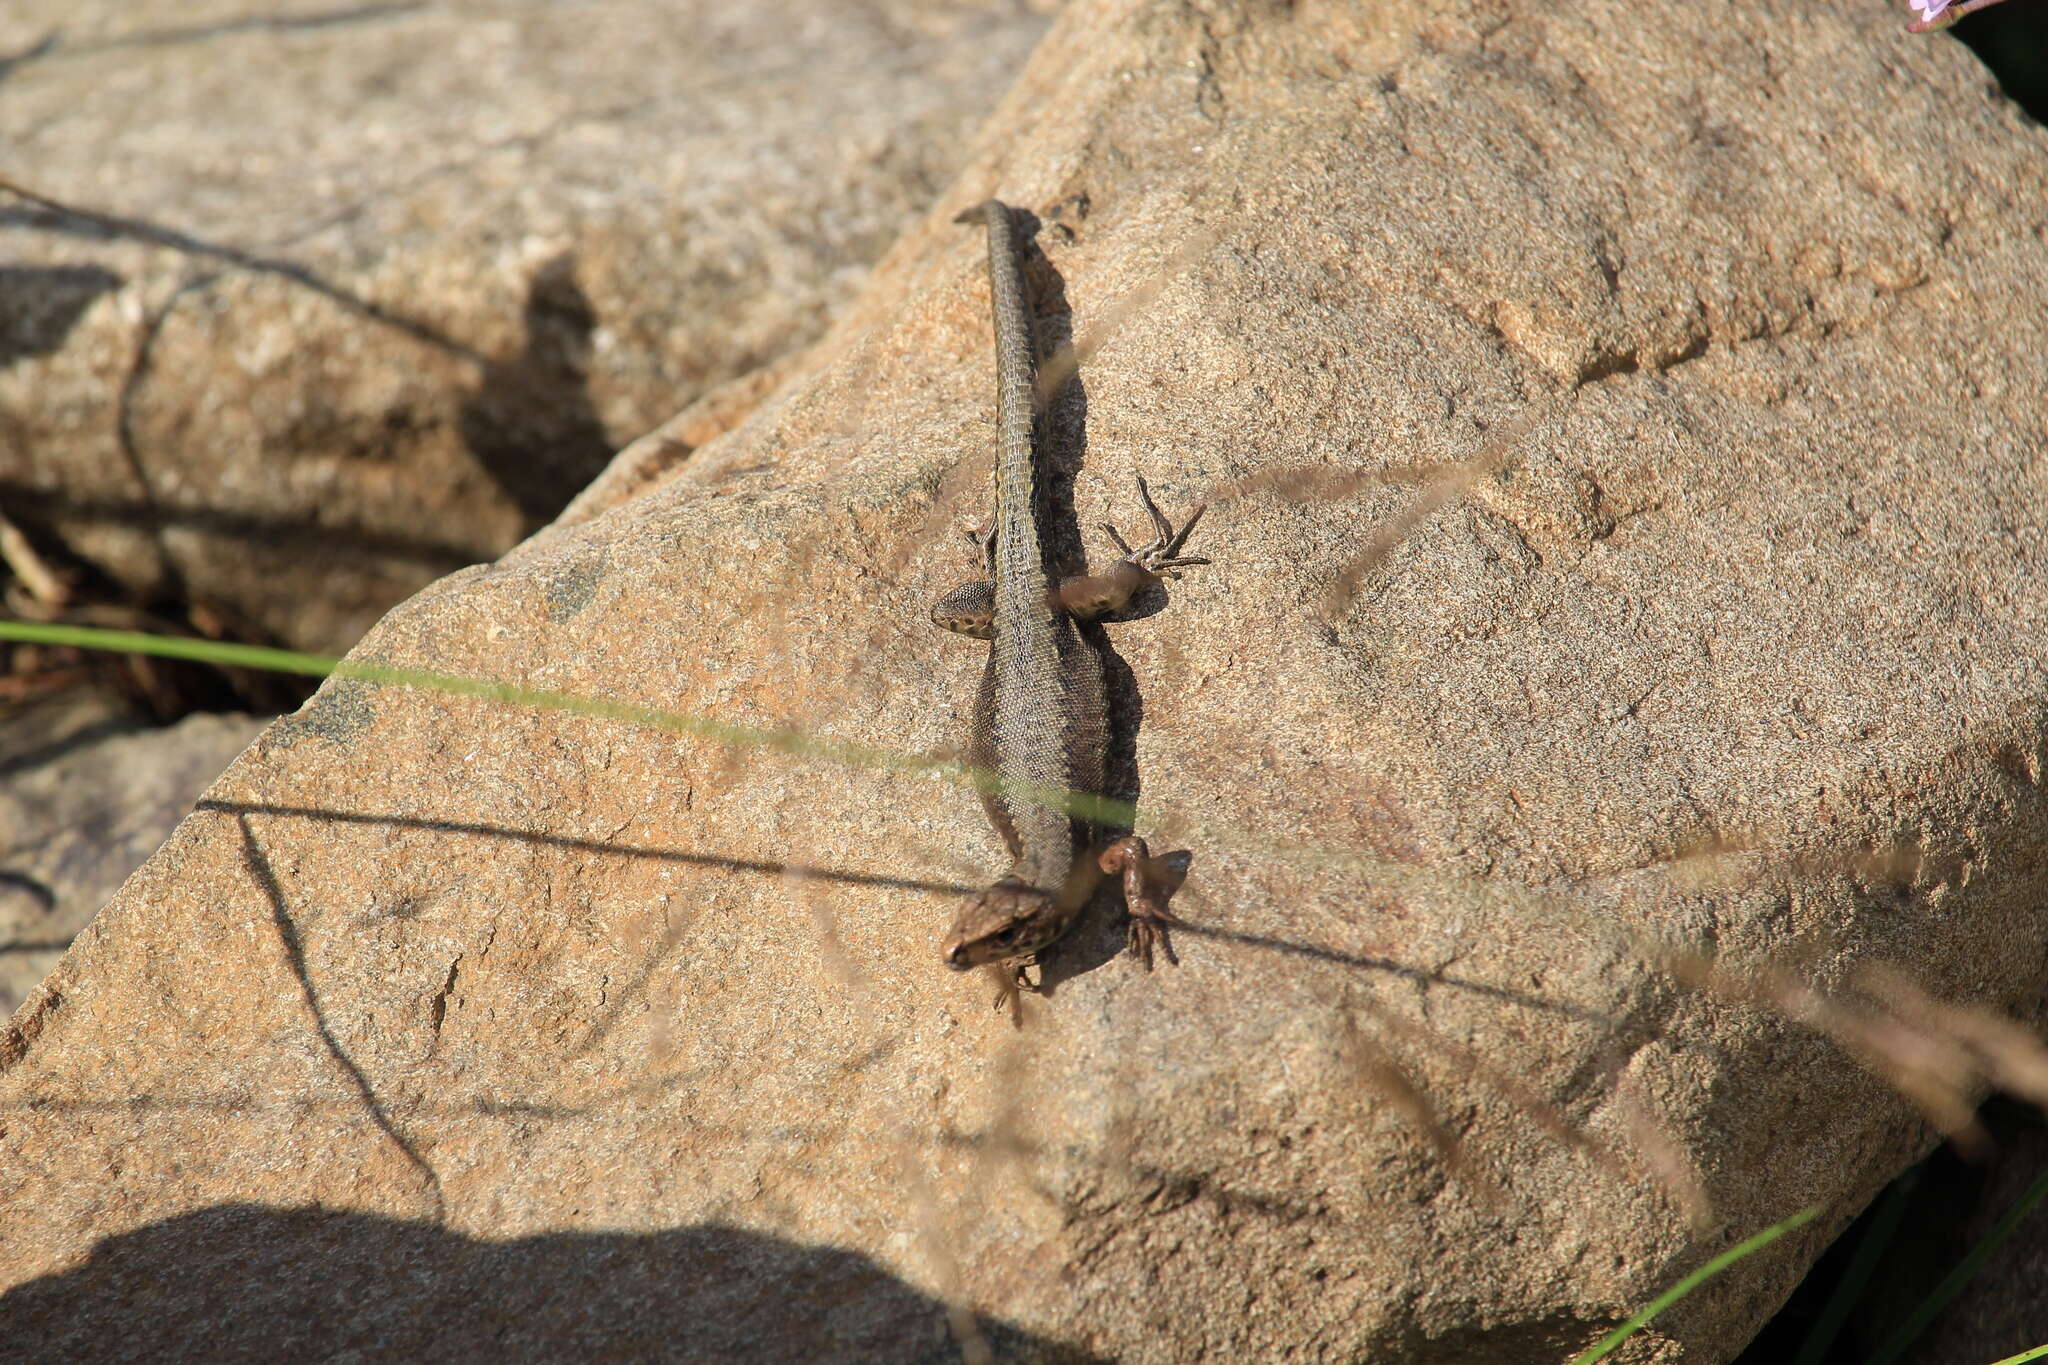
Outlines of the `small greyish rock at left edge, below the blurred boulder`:
<svg viewBox="0 0 2048 1365">
<path fill-rule="evenodd" d="M 264 724 L 145 726 L 90 692 L 0 724 L 0 1009 L 20 1005 Z"/>
</svg>

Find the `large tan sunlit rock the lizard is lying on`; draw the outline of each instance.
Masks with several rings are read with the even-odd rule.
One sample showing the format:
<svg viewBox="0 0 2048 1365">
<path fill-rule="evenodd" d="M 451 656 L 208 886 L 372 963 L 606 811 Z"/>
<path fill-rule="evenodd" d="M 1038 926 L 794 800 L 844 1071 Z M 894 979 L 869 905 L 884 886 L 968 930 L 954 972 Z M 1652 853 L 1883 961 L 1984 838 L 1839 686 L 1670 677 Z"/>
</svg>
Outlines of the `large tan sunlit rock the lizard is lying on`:
<svg viewBox="0 0 2048 1365">
<path fill-rule="evenodd" d="M 956 751 L 979 649 L 926 606 L 991 383 L 948 219 L 1001 192 L 1049 329 L 1106 338 L 1077 522 L 1139 471 L 1214 499 L 1217 565 L 1114 628 L 1182 964 L 1098 907 L 1012 1036 L 936 962 L 1004 862 L 969 794 L 334 684 L 16 1013 L 0 1326 L 121 1340 L 199 1259 L 403 1353 L 524 1246 L 532 1355 L 737 1283 L 774 1359 L 950 1351 L 958 1302 L 1020 1357 L 1563 1361 L 1823 1203 L 1618 1357 L 1729 1359 L 1927 1132 L 1645 945 L 2025 1017 L 2048 948 L 2048 137 L 1898 27 L 1069 8 L 772 395 L 358 653 Z M 262 1338 L 242 1277 L 178 1283 Z"/>
</svg>

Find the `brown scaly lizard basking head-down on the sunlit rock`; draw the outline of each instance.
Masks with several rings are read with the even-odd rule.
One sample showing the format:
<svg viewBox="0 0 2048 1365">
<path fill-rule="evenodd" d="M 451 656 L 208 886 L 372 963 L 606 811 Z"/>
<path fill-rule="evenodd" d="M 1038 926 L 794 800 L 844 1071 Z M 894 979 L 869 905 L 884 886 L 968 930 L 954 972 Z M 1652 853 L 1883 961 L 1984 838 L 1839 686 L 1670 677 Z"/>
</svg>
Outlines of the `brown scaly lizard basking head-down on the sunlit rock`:
<svg viewBox="0 0 2048 1365">
<path fill-rule="evenodd" d="M 932 606 L 932 622 L 989 643 L 975 696 L 969 763 L 993 774 L 981 802 L 1010 847 L 1012 866 L 993 886 L 967 898 L 946 933 L 942 956 L 954 970 L 985 968 L 1022 1027 L 1022 990 L 1042 950 L 1079 919 L 1102 876 L 1120 876 L 1130 913 L 1128 945 L 1145 970 L 1153 948 L 1174 958 L 1165 927 L 1180 923 L 1165 902 L 1171 872 L 1135 835 L 1106 837 L 1071 814 L 1059 794 L 1096 796 L 1108 759 L 1110 724 L 1104 663 L 1081 622 L 1112 618 L 1137 593 L 1180 569 L 1210 561 L 1184 555 L 1202 505 L 1174 524 L 1139 477 L 1139 497 L 1153 540 L 1130 548 L 1114 526 L 1104 530 L 1122 553 L 1106 573 L 1055 583 L 1040 534 L 1036 344 L 1024 295 L 1014 211 L 985 201 L 958 223 L 981 221 L 989 237 L 989 299 L 995 315 L 995 516 L 971 534 L 987 577 L 963 583 Z M 1049 395 L 1047 395 L 1049 397 Z"/>
</svg>

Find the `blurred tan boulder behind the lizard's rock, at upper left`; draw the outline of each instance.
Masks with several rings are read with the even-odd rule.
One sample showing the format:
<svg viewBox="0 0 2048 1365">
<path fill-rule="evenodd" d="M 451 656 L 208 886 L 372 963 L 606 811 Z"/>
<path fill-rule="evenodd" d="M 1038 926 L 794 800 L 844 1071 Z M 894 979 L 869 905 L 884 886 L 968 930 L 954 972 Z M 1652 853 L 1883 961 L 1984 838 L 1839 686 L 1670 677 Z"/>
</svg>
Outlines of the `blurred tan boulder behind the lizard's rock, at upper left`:
<svg viewBox="0 0 2048 1365">
<path fill-rule="evenodd" d="M 711 0 L 0 14 L 0 501 L 346 649 L 813 340 L 1044 18 Z M 262 10 L 256 14 L 254 10 Z"/>
</svg>

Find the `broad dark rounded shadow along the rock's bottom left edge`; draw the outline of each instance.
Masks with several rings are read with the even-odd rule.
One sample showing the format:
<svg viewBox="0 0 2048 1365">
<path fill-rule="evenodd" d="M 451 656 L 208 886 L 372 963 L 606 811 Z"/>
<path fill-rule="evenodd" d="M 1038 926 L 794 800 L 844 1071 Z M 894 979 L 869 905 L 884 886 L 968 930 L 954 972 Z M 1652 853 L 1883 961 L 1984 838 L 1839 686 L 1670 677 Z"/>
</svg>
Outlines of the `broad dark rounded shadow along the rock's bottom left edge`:
<svg viewBox="0 0 2048 1365">
<path fill-rule="evenodd" d="M 1085 1353 L 981 1322 L 1004 1361 Z M 483 1242 L 229 1203 L 0 1295 L 0 1340 L 80 1361 L 958 1361 L 946 1308 L 874 1261 L 702 1224 Z"/>
</svg>

